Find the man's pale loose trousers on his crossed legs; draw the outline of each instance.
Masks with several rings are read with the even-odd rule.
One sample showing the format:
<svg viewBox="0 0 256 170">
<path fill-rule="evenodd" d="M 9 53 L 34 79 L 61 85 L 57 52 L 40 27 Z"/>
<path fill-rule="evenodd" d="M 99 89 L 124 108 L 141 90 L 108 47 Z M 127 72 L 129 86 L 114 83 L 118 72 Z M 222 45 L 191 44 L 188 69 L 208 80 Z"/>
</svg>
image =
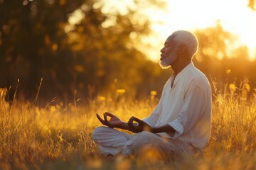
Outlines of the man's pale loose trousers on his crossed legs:
<svg viewBox="0 0 256 170">
<path fill-rule="evenodd" d="M 95 141 L 102 154 L 106 155 L 119 153 L 124 156 L 136 155 L 143 147 L 154 147 L 161 153 L 174 155 L 196 152 L 191 145 L 178 139 L 162 137 L 146 131 L 129 135 L 105 126 L 100 126 L 93 131 L 92 140 Z"/>
</svg>

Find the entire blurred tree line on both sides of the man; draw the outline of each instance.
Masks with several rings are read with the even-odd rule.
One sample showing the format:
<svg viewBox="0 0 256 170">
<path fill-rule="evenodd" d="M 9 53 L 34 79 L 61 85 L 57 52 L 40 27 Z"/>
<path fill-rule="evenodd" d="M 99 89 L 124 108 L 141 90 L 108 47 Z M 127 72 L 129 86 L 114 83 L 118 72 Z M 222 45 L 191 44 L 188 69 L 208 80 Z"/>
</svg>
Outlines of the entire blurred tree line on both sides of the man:
<svg viewBox="0 0 256 170">
<path fill-rule="evenodd" d="M 79 98 L 116 89 L 135 97 L 151 90 L 161 94 L 170 70 L 136 48 L 150 33 L 149 18 L 129 6 L 127 13 L 103 9 L 102 1 L 93 0 L 0 0 L 0 87 L 9 89 L 9 100 L 17 79 L 18 94 L 33 100 L 41 78 L 40 98 L 46 100 L 71 101 L 75 91 Z M 201 47 L 195 64 L 209 79 L 228 83 L 249 76 L 255 85 L 255 61 L 249 61 L 247 48 L 228 54 L 233 35 L 220 25 L 196 35 Z"/>
</svg>

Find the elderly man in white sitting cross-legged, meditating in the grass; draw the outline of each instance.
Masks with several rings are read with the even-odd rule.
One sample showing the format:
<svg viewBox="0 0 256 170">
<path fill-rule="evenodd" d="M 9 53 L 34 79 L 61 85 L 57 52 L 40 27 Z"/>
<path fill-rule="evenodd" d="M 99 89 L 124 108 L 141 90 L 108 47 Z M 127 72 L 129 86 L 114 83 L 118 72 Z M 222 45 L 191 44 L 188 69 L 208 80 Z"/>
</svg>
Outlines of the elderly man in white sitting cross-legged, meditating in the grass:
<svg viewBox="0 0 256 170">
<path fill-rule="evenodd" d="M 96 114 L 106 125 L 92 134 L 102 154 L 136 155 L 145 146 L 169 154 L 203 151 L 210 137 L 211 91 L 208 79 L 191 61 L 197 51 L 196 36 L 186 30 L 177 30 L 166 39 L 160 65 L 171 66 L 174 74 L 164 85 L 161 99 L 149 117 L 132 117 L 124 123 L 112 113 L 104 113 L 103 118 Z"/>
</svg>

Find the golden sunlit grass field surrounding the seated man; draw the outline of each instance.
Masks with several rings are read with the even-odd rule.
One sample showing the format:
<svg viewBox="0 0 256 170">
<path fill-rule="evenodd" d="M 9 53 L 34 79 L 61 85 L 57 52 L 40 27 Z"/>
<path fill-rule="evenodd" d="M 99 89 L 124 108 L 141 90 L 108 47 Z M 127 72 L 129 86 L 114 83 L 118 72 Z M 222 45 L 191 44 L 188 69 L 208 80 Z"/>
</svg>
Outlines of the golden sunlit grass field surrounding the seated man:
<svg viewBox="0 0 256 170">
<path fill-rule="evenodd" d="M 154 110 L 155 92 L 136 101 L 117 90 L 113 96 L 89 98 L 64 104 L 51 102 L 45 108 L 14 100 L 0 101 L 0 169 L 256 169 L 255 89 L 234 84 L 213 91 L 212 134 L 203 155 L 168 162 L 156 152 L 144 157 L 107 160 L 90 157 L 97 152 L 92 130 L 100 125 L 95 113 L 110 111 L 122 120 L 144 118 Z M 247 92 L 254 91 L 250 97 Z"/>
</svg>

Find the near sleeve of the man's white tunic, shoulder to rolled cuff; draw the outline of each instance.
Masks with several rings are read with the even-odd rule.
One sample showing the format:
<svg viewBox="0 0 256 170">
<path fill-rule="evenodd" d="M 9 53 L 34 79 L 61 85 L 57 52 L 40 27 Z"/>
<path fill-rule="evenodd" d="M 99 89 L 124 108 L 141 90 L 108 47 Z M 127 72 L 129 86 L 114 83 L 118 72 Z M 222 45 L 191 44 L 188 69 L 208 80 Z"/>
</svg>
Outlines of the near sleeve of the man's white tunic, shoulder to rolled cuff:
<svg viewBox="0 0 256 170">
<path fill-rule="evenodd" d="M 205 143 L 210 137 L 211 93 L 201 86 L 201 82 L 189 85 L 181 111 L 176 120 L 168 123 L 176 130 L 174 138 L 186 136 L 187 140 L 201 139 Z M 198 147 L 201 144 L 194 145 Z M 203 147 L 203 146 L 200 146 Z"/>
</svg>

